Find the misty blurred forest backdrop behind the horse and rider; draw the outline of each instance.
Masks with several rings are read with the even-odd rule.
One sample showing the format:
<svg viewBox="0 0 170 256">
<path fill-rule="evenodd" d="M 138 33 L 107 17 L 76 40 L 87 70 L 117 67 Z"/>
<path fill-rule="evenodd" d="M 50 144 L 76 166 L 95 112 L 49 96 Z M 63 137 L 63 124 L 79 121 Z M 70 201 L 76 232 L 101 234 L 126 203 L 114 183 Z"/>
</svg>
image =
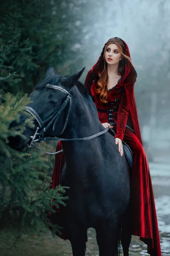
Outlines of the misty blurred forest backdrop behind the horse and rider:
<svg viewBox="0 0 170 256">
<path fill-rule="evenodd" d="M 22 15 L 15 26 L 22 29 L 20 38 L 11 43 L 6 60 L 21 81 L 15 86 L 1 84 L 3 89 L 31 93 L 49 64 L 61 75 L 85 66 L 84 82 L 105 42 L 118 36 L 127 42 L 136 65 L 135 95 L 144 145 L 150 145 L 149 151 L 170 148 L 168 0 L 11 0 L 1 5 L 1 21 L 9 12 Z"/>
</svg>

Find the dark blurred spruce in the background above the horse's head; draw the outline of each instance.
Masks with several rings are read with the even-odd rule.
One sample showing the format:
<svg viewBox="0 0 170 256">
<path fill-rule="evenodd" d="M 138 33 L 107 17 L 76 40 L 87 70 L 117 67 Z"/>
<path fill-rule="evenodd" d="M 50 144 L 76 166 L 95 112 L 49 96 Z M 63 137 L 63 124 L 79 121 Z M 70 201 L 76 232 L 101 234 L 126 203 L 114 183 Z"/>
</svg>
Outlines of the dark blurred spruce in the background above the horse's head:
<svg viewBox="0 0 170 256">
<path fill-rule="evenodd" d="M 80 50 L 75 49 L 74 45 L 75 41 L 79 42 L 76 37 L 81 28 L 76 26 L 77 17 L 72 12 L 69 0 L 22 3 L 7 0 L 0 7 L 0 22 L 6 12 L 19 12 L 23 17 L 20 24 L 15 24 L 18 29 L 24 28 L 20 40 L 13 41 L 11 55 L 6 60 L 6 64 L 12 63 L 22 80 L 17 87 L 8 88 L 8 91 L 31 93 L 37 83 L 44 79 L 49 64 L 62 75 L 79 69 L 83 56 L 80 60 Z M 83 63 L 81 65 L 83 67 Z"/>
</svg>

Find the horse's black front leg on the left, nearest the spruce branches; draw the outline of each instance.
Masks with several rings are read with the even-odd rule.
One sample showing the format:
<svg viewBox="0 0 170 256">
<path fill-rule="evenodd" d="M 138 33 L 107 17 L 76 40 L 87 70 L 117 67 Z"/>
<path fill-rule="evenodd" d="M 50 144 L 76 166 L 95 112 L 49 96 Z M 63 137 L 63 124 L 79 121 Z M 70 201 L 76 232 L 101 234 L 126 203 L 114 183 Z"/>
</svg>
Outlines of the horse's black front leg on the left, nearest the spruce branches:
<svg viewBox="0 0 170 256">
<path fill-rule="evenodd" d="M 87 230 L 79 223 L 69 223 L 68 239 L 71 242 L 73 256 L 85 256 Z"/>
</svg>

